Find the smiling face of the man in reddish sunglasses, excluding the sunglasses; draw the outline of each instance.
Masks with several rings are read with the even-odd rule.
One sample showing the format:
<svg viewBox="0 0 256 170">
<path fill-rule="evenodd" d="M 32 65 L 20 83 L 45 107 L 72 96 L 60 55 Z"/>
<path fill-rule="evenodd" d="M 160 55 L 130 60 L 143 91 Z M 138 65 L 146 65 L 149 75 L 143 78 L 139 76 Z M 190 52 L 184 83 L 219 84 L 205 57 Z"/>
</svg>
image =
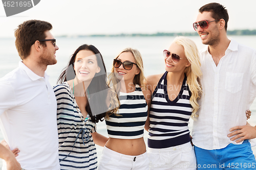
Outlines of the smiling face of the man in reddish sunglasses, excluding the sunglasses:
<svg viewBox="0 0 256 170">
<path fill-rule="evenodd" d="M 207 22 L 215 20 L 211 17 L 211 12 L 204 11 L 203 13 L 199 13 L 197 16 L 197 22 L 201 20 L 206 20 Z M 220 42 L 220 30 L 218 29 L 218 23 L 219 21 L 214 21 L 208 23 L 207 29 L 202 29 L 201 27 L 198 27 L 197 33 L 201 37 L 203 44 L 208 45 L 216 45 Z"/>
</svg>

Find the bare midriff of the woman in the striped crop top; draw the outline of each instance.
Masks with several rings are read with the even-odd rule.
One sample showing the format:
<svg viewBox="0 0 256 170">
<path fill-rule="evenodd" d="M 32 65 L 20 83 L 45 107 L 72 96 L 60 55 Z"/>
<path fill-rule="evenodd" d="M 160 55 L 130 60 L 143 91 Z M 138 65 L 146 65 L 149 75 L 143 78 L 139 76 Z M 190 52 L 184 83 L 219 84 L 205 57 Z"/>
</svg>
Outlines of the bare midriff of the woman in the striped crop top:
<svg viewBox="0 0 256 170">
<path fill-rule="evenodd" d="M 146 152 L 146 145 L 143 137 L 138 139 L 117 139 L 110 138 L 106 148 L 124 155 L 137 156 Z"/>
</svg>

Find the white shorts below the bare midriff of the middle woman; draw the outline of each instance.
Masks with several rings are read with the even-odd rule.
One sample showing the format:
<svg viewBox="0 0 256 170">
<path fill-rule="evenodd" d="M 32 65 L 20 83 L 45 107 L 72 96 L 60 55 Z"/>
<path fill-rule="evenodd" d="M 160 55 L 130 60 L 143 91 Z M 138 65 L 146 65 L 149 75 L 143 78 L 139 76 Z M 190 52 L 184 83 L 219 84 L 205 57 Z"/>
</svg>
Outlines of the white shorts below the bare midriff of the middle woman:
<svg viewBox="0 0 256 170">
<path fill-rule="evenodd" d="M 104 147 L 98 162 L 98 170 L 148 170 L 149 163 L 146 152 L 138 156 L 131 156 L 123 155 Z"/>
</svg>

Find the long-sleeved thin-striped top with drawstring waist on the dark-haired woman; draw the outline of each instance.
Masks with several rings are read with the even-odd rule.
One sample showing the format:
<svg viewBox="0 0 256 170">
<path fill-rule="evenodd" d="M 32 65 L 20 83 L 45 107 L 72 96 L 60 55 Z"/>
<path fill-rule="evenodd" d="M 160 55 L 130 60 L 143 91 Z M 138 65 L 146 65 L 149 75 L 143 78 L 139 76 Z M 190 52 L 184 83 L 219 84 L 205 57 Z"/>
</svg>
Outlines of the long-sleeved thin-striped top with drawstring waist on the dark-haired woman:
<svg viewBox="0 0 256 170">
<path fill-rule="evenodd" d="M 95 123 L 90 117 L 84 120 L 67 82 L 56 85 L 53 90 L 57 99 L 60 168 L 97 169 L 96 147 L 91 135 L 96 131 Z"/>
</svg>

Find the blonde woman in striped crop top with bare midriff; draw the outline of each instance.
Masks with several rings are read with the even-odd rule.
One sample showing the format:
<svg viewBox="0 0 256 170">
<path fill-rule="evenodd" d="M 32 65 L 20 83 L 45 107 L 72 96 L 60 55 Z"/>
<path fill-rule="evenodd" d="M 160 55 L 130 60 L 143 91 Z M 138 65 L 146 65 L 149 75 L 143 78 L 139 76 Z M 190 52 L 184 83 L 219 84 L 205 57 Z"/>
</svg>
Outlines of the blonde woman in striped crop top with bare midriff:
<svg viewBox="0 0 256 170">
<path fill-rule="evenodd" d="M 143 63 L 140 53 L 124 49 L 115 59 L 110 75 L 120 101 L 118 114 L 105 118 L 109 141 L 106 143 L 98 169 L 148 169 L 143 139 L 151 92 L 144 89 Z"/>
</svg>

